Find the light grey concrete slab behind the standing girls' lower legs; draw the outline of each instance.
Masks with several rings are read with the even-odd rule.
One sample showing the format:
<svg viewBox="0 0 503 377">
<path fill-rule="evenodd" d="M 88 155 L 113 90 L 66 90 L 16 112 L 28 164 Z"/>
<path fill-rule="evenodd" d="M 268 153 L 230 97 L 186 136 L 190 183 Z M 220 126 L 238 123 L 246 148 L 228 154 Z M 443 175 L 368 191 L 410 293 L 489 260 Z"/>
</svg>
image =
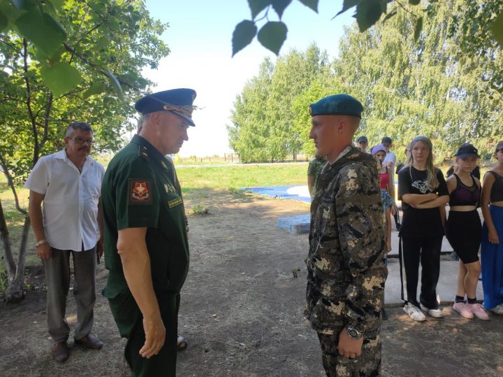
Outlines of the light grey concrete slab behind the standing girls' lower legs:
<svg viewBox="0 0 503 377">
<path fill-rule="evenodd" d="M 458 286 L 459 262 L 453 261 L 448 256 L 441 257 L 440 278 L 437 284 L 437 300 L 441 304 L 452 304 Z M 419 267 L 418 294 L 421 289 L 421 266 Z M 400 296 L 400 263 L 398 258 L 388 258 L 388 279 L 384 288 L 384 302 L 386 306 L 401 306 L 403 304 Z M 476 290 L 476 297 L 483 299 L 482 282 L 479 281 Z"/>
</svg>

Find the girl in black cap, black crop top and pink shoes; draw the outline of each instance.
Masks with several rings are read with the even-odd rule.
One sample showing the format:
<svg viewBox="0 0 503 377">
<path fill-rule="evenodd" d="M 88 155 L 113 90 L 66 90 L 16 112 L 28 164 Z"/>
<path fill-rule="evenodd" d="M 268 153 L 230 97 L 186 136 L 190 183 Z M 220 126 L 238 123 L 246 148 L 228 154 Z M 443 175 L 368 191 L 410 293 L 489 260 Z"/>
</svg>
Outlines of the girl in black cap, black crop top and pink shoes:
<svg viewBox="0 0 503 377">
<path fill-rule="evenodd" d="M 458 169 L 447 178 L 449 220 L 446 235 L 460 257 L 458 292 L 453 309 L 465 318 L 475 316 L 481 320 L 489 320 L 488 314 L 477 304 L 476 299 L 476 285 L 481 273 L 478 254 L 482 236 L 481 221 L 476 208 L 481 197 L 481 184 L 471 172 L 479 158 L 479 151 L 472 144 L 461 145 L 455 153 Z"/>
</svg>

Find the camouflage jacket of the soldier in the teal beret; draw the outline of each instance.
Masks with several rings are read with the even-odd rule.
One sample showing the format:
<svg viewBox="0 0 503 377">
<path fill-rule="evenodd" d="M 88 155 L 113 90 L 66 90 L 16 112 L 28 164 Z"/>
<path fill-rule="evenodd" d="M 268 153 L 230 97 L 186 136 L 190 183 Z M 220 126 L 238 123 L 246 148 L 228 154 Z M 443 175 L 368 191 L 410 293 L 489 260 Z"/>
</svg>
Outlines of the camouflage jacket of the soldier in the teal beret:
<svg viewBox="0 0 503 377">
<path fill-rule="evenodd" d="M 377 166 L 351 147 L 327 168 L 311 204 L 305 315 L 317 332 L 351 325 L 372 336 L 388 275 Z"/>
</svg>

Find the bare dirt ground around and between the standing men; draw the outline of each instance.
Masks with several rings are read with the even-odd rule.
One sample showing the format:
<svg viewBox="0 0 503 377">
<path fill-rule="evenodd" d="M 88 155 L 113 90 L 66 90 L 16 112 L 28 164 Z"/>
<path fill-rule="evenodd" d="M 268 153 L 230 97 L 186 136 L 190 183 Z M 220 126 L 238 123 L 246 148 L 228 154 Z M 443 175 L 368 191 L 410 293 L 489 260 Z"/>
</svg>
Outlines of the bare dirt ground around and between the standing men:
<svg viewBox="0 0 503 377">
<path fill-rule="evenodd" d="M 323 376 L 316 334 L 302 317 L 307 235 L 275 227 L 279 217 L 306 213 L 307 204 L 211 190 L 188 199 L 188 212 L 200 204 L 210 213 L 189 216 L 191 267 L 180 308 L 189 348 L 178 354 L 177 374 Z M 103 349 L 72 347 L 66 363 L 52 361 L 43 271 L 31 269 L 30 276 L 27 297 L 0 306 L 0 375 L 128 376 L 124 340 L 101 294 L 94 334 Z M 97 278 L 101 292 L 103 264 Z M 384 376 L 503 376 L 503 318 L 483 322 L 445 312 L 442 320 L 420 323 L 388 308 L 381 331 Z M 71 295 L 68 321 L 75 322 Z"/>
</svg>

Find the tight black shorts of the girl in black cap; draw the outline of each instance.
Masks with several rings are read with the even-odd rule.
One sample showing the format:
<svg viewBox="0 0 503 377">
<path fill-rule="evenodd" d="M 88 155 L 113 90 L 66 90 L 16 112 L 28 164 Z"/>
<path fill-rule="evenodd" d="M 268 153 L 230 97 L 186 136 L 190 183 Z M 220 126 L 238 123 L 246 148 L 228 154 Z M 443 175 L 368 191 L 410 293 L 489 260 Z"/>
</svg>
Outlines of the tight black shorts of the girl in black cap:
<svg viewBox="0 0 503 377">
<path fill-rule="evenodd" d="M 478 211 L 449 211 L 446 235 L 464 264 L 479 260 L 482 225 Z"/>
</svg>

